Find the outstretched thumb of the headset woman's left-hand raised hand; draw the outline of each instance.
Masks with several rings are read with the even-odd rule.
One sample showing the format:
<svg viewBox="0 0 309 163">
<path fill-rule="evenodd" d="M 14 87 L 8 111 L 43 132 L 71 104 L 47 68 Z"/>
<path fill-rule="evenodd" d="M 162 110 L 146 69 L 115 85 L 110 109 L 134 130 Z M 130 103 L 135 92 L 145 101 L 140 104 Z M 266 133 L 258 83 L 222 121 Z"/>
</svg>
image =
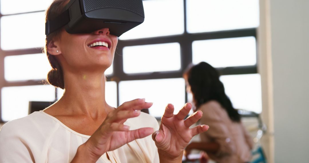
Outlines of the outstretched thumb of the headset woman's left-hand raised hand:
<svg viewBox="0 0 309 163">
<path fill-rule="evenodd" d="M 144 128 L 139 128 L 136 130 L 127 131 L 127 143 L 135 139 L 141 139 L 146 136 L 149 136 L 153 132 L 154 132 L 154 129 L 151 127 L 144 127 Z"/>
</svg>

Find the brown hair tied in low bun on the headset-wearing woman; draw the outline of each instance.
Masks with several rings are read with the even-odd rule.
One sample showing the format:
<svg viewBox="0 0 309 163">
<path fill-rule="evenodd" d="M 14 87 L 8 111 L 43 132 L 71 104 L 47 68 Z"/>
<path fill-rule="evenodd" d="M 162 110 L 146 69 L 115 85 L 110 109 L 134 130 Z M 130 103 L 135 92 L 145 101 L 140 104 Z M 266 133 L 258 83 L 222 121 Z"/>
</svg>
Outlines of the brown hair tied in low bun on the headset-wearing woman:
<svg viewBox="0 0 309 163">
<path fill-rule="evenodd" d="M 62 12 L 64 12 L 67 2 L 68 0 L 54 0 L 49 6 L 49 8 L 46 10 L 45 21 L 53 20 Z M 55 56 L 47 52 L 48 44 L 53 40 L 53 38 L 59 37 L 59 33 L 62 29 L 63 28 L 60 28 L 57 31 L 54 31 L 53 33 L 46 36 L 44 52 L 46 53 L 49 63 L 52 66 L 52 69 L 47 74 L 47 81 L 49 82 L 49 84 L 55 87 L 64 89 L 63 71 L 60 62 Z"/>
</svg>

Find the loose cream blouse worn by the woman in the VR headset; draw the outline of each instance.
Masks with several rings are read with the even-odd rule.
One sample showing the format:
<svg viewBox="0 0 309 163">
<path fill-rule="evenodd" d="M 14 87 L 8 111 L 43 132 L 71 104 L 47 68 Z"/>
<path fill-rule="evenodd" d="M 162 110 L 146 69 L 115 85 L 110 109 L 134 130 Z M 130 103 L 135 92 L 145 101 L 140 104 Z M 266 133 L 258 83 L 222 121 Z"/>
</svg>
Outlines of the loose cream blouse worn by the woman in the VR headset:
<svg viewBox="0 0 309 163">
<path fill-rule="evenodd" d="M 159 129 L 157 120 L 146 113 L 125 122 L 131 130 L 141 127 Z M 44 111 L 36 111 L 24 118 L 12 120 L 0 130 L 1 163 L 64 163 L 72 161 L 79 145 L 90 136 L 71 130 Z M 159 162 L 159 155 L 151 135 L 134 140 L 107 152 L 97 163 Z"/>
</svg>

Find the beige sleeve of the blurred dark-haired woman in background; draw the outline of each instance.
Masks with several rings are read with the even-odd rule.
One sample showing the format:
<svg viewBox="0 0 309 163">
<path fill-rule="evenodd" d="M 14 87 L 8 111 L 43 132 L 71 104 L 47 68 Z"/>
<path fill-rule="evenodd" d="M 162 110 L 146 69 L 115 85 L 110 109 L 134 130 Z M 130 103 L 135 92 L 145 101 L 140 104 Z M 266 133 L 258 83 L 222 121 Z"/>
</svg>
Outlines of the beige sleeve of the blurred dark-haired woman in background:
<svg viewBox="0 0 309 163">
<path fill-rule="evenodd" d="M 214 141 L 219 144 L 219 150 L 215 155 L 222 157 L 225 155 L 231 155 L 235 152 L 234 141 L 231 140 L 231 132 L 228 125 L 223 121 L 222 111 L 224 111 L 220 105 L 208 105 L 201 108 L 203 116 L 201 123 L 209 126 L 206 134 L 210 141 Z"/>
</svg>

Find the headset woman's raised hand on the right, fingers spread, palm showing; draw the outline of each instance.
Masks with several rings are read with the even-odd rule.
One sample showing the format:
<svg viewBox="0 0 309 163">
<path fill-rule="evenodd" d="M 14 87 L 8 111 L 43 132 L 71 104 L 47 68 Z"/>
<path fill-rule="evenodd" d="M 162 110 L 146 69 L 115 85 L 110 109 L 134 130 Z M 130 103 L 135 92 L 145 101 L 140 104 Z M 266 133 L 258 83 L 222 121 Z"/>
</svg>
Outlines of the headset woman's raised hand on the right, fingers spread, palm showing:
<svg viewBox="0 0 309 163">
<path fill-rule="evenodd" d="M 160 129 L 152 134 L 152 138 L 158 147 L 160 162 L 163 157 L 171 161 L 181 161 L 184 148 L 188 145 L 192 137 L 208 130 L 209 126 L 207 125 L 198 125 L 189 128 L 203 114 L 201 111 L 197 111 L 184 120 L 191 107 L 192 104 L 186 103 L 177 115 L 173 114 L 174 106 L 172 104 L 168 104 L 165 108 L 165 112 L 161 118 Z"/>
</svg>

